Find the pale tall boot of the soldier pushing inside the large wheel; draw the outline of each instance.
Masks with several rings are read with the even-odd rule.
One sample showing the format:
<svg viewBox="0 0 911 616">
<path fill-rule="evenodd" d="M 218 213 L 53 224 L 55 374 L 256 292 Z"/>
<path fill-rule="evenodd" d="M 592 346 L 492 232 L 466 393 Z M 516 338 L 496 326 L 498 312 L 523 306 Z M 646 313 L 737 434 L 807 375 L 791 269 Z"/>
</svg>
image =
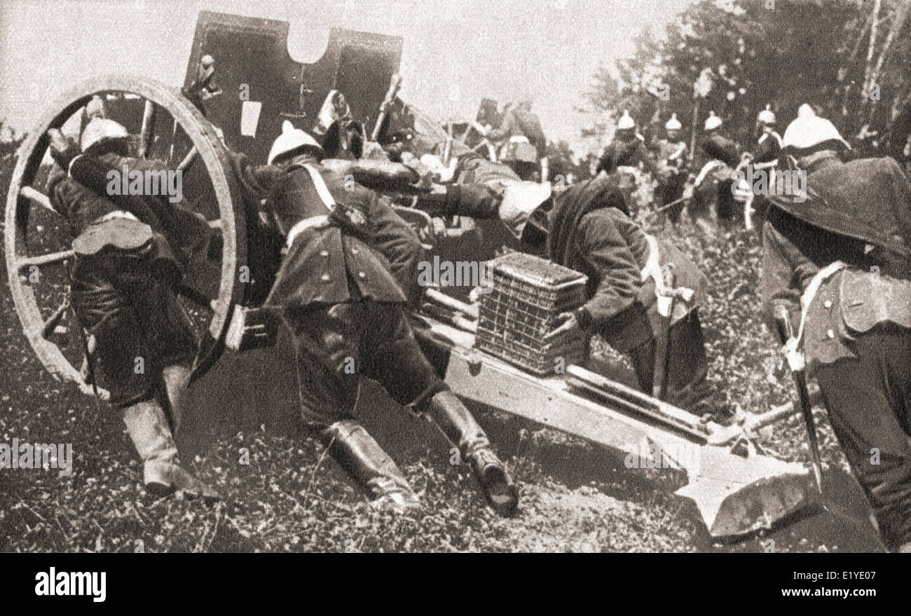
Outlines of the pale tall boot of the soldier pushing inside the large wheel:
<svg viewBox="0 0 911 616">
<path fill-rule="evenodd" d="M 158 402 L 147 400 L 123 410 L 123 422 L 143 461 L 143 478 L 152 494 L 167 496 L 186 490 L 207 500 L 219 494 L 180 466 L 177 445 Z"/>
</svg>

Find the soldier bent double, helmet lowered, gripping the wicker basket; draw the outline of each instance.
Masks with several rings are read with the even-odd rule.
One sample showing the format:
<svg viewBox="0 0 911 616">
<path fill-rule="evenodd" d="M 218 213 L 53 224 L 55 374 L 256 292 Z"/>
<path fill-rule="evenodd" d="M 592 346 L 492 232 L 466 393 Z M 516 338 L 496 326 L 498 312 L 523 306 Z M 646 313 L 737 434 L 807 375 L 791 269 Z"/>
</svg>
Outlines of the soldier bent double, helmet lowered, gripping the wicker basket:
<svg viewBox="0 0 911 616">
<path fill-rule="evenodd" d="M 600 334 L 630 354 L 643 391 L 654 393 L 660 385 L 662 397 L 676 406 L 698 415 L 715 411 L 696 313 L 705 276 L 670 242 L 647 235 L 630 219 L 614 180 L 601 176 L 553 196 L 529 182 L 502 192 L 454 185 L 422 196 L 418 207 L 435 215 L 499 218 L 521 238 L 523 250 L 585 273 L 589 301 L 560 315 L 565 323 L 548 335 L 575 328 Z M 660 301 L 675 288 L 691 289 L 689 302 Z M 667 355 L 656 357 L 660 340 L 668 344 Z M 656 384 L 665 367 L 666 383 Z"/>
</svg>

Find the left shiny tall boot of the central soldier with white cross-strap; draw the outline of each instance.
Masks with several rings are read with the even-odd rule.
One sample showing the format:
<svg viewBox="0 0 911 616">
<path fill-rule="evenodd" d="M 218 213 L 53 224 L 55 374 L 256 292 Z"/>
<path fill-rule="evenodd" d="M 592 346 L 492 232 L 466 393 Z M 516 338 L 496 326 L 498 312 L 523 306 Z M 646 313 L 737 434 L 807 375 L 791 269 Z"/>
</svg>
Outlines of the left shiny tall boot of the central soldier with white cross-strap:
<svg viewBox="0 0 911 616">
<path fill-rule="evenodd" d="M 320 439 L 335 461 L 370 495 L 374 507 L 397 513 L 421 507 L 393 458 L 359 423 L 353 419 L 335 422 L 322 430 Z"/>
</svg>

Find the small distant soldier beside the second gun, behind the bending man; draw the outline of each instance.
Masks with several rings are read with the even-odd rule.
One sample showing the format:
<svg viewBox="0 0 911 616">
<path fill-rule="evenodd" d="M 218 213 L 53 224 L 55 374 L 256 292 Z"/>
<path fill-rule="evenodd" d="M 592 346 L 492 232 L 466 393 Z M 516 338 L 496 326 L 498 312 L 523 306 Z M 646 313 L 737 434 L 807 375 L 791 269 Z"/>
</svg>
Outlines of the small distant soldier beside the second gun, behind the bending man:
<svg viewBox="0 0 911 616">
<path fill-rule="evenodd" d="M 548 140 L 541 120 L 531 110 L 530 97 L 524 97 L 508 108 L 500 128 L 485 129 L 484 136 L 495 143 L 503 142 L 499 159 L 512 167 L 522 180 L 548 180 Z"/>
</svg>

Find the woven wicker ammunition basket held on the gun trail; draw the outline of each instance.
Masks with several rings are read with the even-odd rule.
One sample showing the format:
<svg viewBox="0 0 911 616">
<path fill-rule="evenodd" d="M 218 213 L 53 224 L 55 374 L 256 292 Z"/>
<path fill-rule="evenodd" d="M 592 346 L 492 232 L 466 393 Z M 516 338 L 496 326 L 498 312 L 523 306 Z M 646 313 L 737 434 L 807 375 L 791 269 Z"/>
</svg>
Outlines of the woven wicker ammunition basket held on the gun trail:
<svg viewBox="0 0 911 616">
<path fill-rule="evenodd" d="M 542 376 L 585 359 L 581 334 L 544 342 L 559 313 L 585 303 L 585 275 L 522 252 L 497 257 L 488 267 L 494 282 L 490 293 L 481 295 L 477 348 Z"/>
</svg>

